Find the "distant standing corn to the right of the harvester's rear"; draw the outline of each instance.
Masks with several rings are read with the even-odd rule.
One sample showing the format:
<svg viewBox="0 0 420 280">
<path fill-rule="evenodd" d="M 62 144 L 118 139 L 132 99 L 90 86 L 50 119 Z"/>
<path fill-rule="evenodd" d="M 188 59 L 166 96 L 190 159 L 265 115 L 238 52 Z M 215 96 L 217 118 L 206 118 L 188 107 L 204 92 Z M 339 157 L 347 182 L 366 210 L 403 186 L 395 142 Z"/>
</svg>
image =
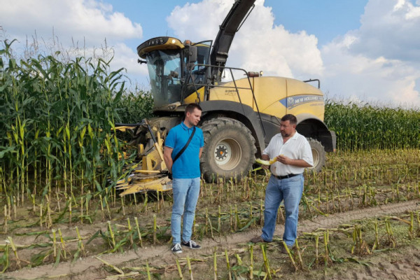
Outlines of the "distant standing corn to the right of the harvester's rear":
<svg viewBox="0 0 420 280">
<path fill-rule="evenodd" d="M 420 148 L 419 109 L 392 109 L 327 101 L 325 124 L 337 134 L 337 149 Z"/>
</svg>

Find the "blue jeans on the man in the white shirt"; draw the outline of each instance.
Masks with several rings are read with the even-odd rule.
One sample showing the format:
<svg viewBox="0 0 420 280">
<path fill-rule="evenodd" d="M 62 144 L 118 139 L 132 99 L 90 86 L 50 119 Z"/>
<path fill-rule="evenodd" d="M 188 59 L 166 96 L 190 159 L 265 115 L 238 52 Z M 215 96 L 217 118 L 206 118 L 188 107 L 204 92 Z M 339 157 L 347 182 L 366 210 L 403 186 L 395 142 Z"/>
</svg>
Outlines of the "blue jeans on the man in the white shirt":
<svg viewBox="0 0 420 280">
<path fill-rule="evenodd" d="M 303 175 L 288 179 L 276 179 L 271 176 L 265 190 L 264 227 L 262 239 L 272 241 L 276 229 L 276 218 L 280 202 L 284 200 L 286 223 L 284 225 L 283 241 L 288 246 L 295 244 L 297 237 L 297 216 L 299 216 L 299 202 L 303 192 Z"/>
</svg>

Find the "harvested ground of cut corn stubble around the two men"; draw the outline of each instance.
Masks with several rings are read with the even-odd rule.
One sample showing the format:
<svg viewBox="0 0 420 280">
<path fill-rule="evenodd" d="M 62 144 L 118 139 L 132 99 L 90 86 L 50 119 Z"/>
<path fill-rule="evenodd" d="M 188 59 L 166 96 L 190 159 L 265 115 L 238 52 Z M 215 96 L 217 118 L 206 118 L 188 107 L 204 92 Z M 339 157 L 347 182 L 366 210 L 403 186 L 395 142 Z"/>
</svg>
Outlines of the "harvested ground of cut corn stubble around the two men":
<svg viewBox="0 0 420 280">
<path fill-rule="evenodd" d="M 174 274 L 187 279 L 191 275 L 214 279 L 213 274 L 221 279 L 276 279 L 281 271 L 292 279 L 293 273 L 304 274 L 344 262 L 363 265 L 370 255 L 403 249 L 420 240 L 420 209 L 416 207 L 420 200 L 418 149 L 339 152 L 328 159 L 322 172 L 305 172 L 300 204 L 300 227 L 314 224 L 316 219 L 324 223 L 306 226 L 309 230 L 300 232 L 295 248 L 284 257 L 279 257 L 283 243 L 278 235 L 272 244 L 252 245 L 246 244 L 248 239 L 241 239 L 241 234 L 258 230 L 264 223 L 263 197 L 270 174 L 251 172 L 241 181 L 202 181 L 193 239 L 221 241 L 214 241 L 214 248 L 200 251 L 200 255 L 177 260 L 167 256 L 172 255 L 170 193 L 118 197 L 111 191 L 104 197 L 88 190 L 84 195 L 66 197 L 63 190 L 53 188 L 45 200 L 31 197 L 25 203 L 3 195 L 0 236 L 6 243 L 0 241 L 0 269 L 18 272 L 25 265 L 76 264 L 79 258 L 93 255 L 118 277 L 151 279 L 142 276 L 149 272 L 162 279 L 179 279 Z M 346 223 L 330 221 L 334 214 L 363 209 L 370 216 L 379 207 L 406 202 L 413 205 L 409 212 L 392 211 Z M 284 217 L 281 207 L 278 226 L 284 223 Z M 169 252 L 161 252 L 158 258 L 136 257 L 140 258 L 137 266 L 112 265 L 102 258 L 107 253 L 130 249 L 147 256 L 147 252 L 153 248 L 160 251 L 162 246 Z"/>
</svg>

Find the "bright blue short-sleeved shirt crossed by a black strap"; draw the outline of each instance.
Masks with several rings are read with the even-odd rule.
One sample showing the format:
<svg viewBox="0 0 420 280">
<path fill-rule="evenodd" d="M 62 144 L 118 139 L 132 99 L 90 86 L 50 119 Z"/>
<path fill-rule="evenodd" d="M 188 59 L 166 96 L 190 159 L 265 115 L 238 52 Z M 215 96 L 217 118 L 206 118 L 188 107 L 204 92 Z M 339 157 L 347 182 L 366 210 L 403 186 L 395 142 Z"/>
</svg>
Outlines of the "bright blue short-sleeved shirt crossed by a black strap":
<svg viewBox="0 0 420 280">
<path fill-rule="evenodd" d="M 184 123 L 176 125 L 169 130 L 165 139 L 165 146 L 173 148 L 172 159 L 186 146 L 188 139 L 193 133 L 193 127 L 188 128 Z M 191 139 L 186 151 L 174 162 L 172 177 L 176 179 L 193 179 L 201 176 L 200 172 L 200 148 L 204 147 L 203 131 L 195 127 L 195 134 Z"/>
</svg>

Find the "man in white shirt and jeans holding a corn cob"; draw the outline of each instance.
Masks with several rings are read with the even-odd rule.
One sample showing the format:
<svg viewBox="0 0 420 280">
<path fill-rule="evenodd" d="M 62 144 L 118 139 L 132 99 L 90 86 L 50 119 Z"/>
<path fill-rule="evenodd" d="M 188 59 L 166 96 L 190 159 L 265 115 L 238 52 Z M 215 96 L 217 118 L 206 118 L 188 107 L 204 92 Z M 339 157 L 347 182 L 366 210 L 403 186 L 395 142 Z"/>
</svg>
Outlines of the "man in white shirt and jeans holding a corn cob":
<svg viewBox="0 0 420 280">
<path fill-rule="evenodd" d="M 286 212 L 283 241 L 291 248 L 297 237 L 297 217 L 303 192 L 303 172 L 305 167 L 314 165 L 311 146 L 307 139 L 296 131 L 297 119 L 288 114 L 281 118 L 280 133 L 274 135 L 262 152 L 262 160 L 276 158 L 270 171 L 265 190 L 264 227 L 262 235 L 251 242 L 271 242 L 276 229 L 277 212 L 282 200 Z M 262 165 L 268 169 L 267 165 Z M 283 247 L 282 247 L 283 248 Z M 282 250 L 283 253 L 286 250 Z"/>
</svg>

